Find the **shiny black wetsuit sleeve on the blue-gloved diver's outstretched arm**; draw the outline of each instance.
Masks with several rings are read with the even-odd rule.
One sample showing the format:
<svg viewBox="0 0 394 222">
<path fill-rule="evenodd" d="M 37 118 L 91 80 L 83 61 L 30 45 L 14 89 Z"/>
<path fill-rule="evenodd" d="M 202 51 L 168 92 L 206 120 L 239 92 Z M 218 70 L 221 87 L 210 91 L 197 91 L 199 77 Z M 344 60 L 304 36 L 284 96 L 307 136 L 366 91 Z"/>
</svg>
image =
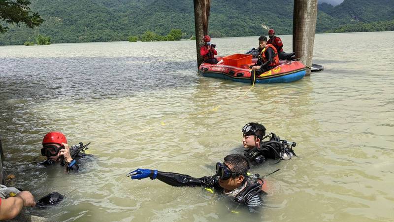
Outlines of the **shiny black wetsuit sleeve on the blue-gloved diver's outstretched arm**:
<svg viewBox="0 0 394 222">
<path fill-rule="evenodd" d="M 171 186 L 207 186 L 220 188 L 219 177 L 217 176 L 194 178 L 185 174 L 158 171 L 156 179 Z"/>
</svg>

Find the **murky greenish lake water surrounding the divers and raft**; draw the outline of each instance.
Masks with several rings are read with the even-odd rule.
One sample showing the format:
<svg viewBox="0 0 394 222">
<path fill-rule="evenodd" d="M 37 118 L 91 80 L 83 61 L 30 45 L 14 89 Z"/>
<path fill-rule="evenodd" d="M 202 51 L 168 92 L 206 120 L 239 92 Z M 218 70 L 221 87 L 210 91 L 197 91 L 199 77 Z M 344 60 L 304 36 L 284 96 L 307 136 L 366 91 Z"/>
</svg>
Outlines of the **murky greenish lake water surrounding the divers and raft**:
<svg viewBox="0 0 394 222">
<path fill-rule="evenodd" d="M 292 37 L 281 37 L 290 52 Z M 212 43 L 230 55 L 257 38 Z M 28 210 L 56 221 L 394 221 L 393 42 L 394 32 L 316 35 L 324 71 L 249 92 L 200 76 L 195 41 L 1 46 L 0 136 L 6 175 L 16 177 L 7 184 L 37 199 L 65 194 Z M 251 169 L 280 169 L 265 177 L 258 213 L 231 213 L 234 203 L 200 187 L 125 178 L 139 167 L 213 175 L 242 150 L 251 121 L 295 141 L 298 155 Z M 92 143 L 78 173 L 37 165 L 43 136 L 55 130 L 70 145 Z"/>
</svg>

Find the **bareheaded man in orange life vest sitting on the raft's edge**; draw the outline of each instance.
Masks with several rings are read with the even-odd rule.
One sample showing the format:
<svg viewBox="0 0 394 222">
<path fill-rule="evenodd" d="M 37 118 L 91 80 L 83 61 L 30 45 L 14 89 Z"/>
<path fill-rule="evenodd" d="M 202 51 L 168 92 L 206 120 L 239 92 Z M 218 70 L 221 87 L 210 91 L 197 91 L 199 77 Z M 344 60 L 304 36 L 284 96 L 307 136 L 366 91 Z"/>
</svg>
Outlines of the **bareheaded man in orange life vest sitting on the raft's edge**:
<svg viewBox="0 0 394 222">
<path fill-rule="evenodd" d="M 259 37 L 259 50 L 261 52 L 257 63 L 249 67 L 252 69 L 251 72 L 255 70 L 257 75 L 263 74 L 279 65 L 278 51 L 273 45 L 267 44 L 267 37 Z"/>
</svg>

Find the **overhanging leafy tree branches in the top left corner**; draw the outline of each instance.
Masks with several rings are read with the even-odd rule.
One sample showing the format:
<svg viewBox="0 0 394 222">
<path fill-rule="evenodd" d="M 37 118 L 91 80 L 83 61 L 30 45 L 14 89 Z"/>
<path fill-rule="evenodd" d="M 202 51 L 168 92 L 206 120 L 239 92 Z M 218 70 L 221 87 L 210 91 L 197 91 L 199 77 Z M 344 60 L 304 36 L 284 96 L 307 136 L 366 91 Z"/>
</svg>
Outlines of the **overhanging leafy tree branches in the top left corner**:
<svg viewBox="0 0 394 222">
<path fill-rule="evenodd" d="M 39 26 L 44 20 L 37 12 L 30 10 L 30 0 L 0 0 L 0 21 L 7 24 L 26 24 L 29 28 Z M 0 24 L 0 33 L 7 32 L 8 27 Z"/>
</svg>

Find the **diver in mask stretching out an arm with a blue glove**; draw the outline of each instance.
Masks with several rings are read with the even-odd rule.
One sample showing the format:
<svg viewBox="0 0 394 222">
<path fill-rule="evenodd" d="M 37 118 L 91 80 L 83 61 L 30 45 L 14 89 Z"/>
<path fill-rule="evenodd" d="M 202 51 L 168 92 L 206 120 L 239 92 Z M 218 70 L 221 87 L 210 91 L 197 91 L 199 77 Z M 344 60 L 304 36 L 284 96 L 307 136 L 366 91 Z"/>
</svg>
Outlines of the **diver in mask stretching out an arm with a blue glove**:
<svg viewBox="0 0 394 222">
<path fill-rule="evenodd" d="M 252 179 L 247 176 L 249 168 L 244 155 L 230 154 L 224 158 L 223 163 L 216 163 L 216 174 L 209 177 L 194 178 L 184 174 L 139 168 L 131 171 L 127 177 L 131 176 L 131 180 L 149 177 L 172 186 L 212 187 L 229 195 L 237 203 L 255 208 L 262 205 L 264 182 L 260 178 Z"/>
</svg>

